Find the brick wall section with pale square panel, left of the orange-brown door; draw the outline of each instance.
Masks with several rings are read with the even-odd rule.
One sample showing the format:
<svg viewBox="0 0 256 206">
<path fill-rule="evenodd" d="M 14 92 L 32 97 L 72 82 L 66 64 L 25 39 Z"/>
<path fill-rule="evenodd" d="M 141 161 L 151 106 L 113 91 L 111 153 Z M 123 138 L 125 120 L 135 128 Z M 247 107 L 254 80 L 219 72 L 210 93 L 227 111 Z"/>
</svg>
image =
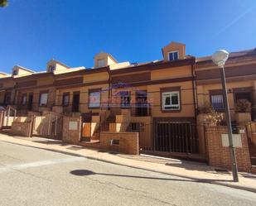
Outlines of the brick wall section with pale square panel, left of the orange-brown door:
<svg viewBox="0 0 256 206">
<path fill-rule="evenodd" d="M 63 117 L 62 140 L 78 145 L 81 138 L 81 117 Z"/>
</svg>

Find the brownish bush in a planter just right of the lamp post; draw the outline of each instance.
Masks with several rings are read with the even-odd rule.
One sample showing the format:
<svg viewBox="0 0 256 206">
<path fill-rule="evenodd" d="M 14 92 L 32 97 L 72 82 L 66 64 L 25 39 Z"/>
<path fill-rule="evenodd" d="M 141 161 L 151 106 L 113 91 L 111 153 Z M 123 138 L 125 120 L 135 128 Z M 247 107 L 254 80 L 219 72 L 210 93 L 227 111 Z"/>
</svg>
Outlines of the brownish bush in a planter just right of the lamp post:
<svg viewBox="0 0 256 206">
<path fill-rule="evenodd" d="M 252 121 L 251 111 L 252 111 L 251 103 L 247 99 L 239 99 L 235 104 L 236 122 Z"/>
</svg>

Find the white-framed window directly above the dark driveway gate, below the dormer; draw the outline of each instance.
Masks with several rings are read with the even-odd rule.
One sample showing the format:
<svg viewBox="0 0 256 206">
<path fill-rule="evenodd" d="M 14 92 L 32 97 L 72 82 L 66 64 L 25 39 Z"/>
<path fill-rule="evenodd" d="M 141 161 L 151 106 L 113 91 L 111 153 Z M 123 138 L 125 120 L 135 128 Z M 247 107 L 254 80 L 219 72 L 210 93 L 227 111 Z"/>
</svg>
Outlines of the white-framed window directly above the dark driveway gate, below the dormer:
<svg viewBox="0 0 256 206">
<path fill-rule="evenodd" d="M 180 110 L 180 92 L 162 93 L 162 110 Z"/>
</svg>

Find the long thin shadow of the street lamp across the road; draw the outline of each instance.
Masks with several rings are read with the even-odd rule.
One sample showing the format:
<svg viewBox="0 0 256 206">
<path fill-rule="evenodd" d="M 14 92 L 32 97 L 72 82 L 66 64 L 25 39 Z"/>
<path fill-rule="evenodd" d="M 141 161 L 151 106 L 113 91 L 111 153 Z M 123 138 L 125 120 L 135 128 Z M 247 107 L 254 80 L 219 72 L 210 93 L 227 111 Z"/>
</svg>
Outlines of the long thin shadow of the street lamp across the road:
<svg viewBox="0 0 256 206">
<path fill-rule="evenodd" d="M 70 174 L 77 175 L 77 176 L 106 175 L 106 176 L 116 176 L 116 177 L 124 177 L 124 178 L 147 179 L 147 180 L 184 181 L 184 182 L 200 182 L 200 183 L 214 183 L 215 181 L 233 182 L 233 180 L 194 179 L 194 178 L 186 178 L 186 177 L 182 177 L 182 176 L 178 176 L 178 175 L 175 175 L 175 176 L 178 176 L 181 179 L 134 176 L 134 175 L 117 175 L 117 174 L 96 173 L 91 170 L 72 170 L 72 171 L 70 171 Z"/>
</svg>

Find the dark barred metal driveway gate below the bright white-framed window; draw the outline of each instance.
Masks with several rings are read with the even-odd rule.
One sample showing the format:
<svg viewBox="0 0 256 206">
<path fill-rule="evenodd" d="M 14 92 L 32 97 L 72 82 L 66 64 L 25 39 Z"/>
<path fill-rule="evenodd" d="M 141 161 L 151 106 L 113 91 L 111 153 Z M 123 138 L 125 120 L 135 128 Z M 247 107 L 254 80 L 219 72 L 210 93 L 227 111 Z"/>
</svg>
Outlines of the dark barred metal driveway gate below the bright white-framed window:
<svg viewBox="0 0 256 206">
<path fill-rule="evenodd" d="M 157 122 L 153 147 L 154 151 L 197 153 L 196 125 L 191 122 Z"/>
</svg>

